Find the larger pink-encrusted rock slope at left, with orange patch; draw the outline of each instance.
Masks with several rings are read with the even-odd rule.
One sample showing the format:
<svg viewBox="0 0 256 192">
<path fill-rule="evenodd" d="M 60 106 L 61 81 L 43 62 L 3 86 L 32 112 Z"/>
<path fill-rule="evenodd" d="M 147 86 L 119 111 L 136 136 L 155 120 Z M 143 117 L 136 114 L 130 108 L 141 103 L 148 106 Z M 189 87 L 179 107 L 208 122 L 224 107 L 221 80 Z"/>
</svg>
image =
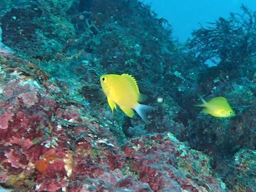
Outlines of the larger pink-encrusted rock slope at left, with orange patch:
<svg viewBox="0 0 256 192">
<path fill-rule="evenodd" d="M 151 191 L 129 176 L 112 133 L 80 106 L 53 99 L 50 81 L 12 72 L 2 83 L 0 182 L 26 191 Z"/>
</svg>

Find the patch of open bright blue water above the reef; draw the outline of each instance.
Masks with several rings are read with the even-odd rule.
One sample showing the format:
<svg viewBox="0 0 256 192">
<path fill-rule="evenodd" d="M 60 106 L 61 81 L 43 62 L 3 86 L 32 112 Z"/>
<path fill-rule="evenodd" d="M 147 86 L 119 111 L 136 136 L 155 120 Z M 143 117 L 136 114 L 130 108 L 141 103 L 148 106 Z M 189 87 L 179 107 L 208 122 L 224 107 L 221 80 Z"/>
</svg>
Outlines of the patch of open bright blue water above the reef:
<svg viewBox="0 0 256 192">
<path fill-rule="evenodd" d="M 159 17 L 169 21 L 173 28 L 173 37 L 185 42 L 191 32 L 200 27 L 199 23 L 214 22 L 220 16 L 229 17 L 229 13 L 242 13 L 241 5 L 256 9 L 255 0 L 143 0 L 151 5 Z M 188 16 L 189 15 L 189 16 Z"/>
</svg>

